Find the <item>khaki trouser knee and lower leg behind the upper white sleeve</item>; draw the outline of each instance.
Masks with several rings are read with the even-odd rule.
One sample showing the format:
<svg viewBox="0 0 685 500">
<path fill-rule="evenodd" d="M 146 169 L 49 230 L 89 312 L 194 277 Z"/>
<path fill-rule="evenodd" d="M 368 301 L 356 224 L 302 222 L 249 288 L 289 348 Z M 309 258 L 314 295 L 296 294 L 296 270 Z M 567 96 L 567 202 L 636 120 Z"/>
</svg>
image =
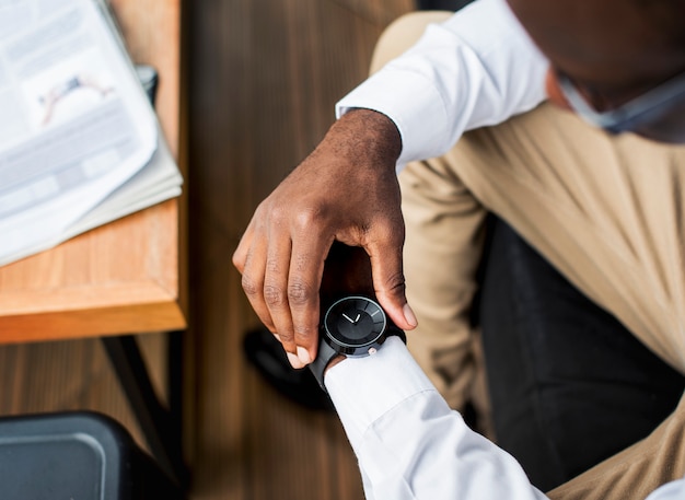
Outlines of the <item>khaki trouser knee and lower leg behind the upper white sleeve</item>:
<svg viewBox="0 0 685 500">
<path fill-rule="evenodd" d="M 451 14 L 414 12 L 392 23 L 376 44 L 371 72 L 409 48 L 429 23 Z M 480 430 L 489 433 L 479 337 L 469 325 L 485 211 L 442 159 L 409 164 L 399 183 L 407 298 L 419 321 L 408 333 L 409 350 L 451 407 L 462 410 L 475 398 Z"/>
</svg>

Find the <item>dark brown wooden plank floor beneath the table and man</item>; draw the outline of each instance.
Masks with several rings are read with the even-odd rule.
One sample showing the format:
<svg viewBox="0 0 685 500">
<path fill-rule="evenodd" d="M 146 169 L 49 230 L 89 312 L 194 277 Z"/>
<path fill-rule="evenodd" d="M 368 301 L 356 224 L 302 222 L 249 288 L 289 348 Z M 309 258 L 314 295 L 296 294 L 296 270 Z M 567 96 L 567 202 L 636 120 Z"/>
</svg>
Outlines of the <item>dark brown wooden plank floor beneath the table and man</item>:
<svg viewBox="0 0 685 500">
<path fill-rule="evenodd" d="M 413 0 L 188 0 L 190 499 L 358 500 L 337 418 L 243 358 L 257 325 L 231 255 L 257 204 L 323 137 L 381 31 Z M 161 386 L 163 335 L 140 338 Z M 0 415 L 95 409 L 146 445 L 98 340 L 0 347 Z"/>
</svg>

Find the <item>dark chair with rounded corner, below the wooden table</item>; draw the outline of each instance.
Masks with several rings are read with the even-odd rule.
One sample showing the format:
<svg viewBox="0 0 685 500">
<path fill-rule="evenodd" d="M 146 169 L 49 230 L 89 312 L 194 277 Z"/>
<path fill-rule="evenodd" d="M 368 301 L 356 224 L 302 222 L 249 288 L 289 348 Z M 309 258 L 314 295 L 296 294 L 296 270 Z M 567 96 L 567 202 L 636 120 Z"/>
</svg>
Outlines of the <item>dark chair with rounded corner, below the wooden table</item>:
<svg viewBox="0 0 685 500">
<path fill-rule="evenodd" d="M 91 411 L 0 418 L 3 500 L 182 500 L 117 421 Z"/>
</svg>

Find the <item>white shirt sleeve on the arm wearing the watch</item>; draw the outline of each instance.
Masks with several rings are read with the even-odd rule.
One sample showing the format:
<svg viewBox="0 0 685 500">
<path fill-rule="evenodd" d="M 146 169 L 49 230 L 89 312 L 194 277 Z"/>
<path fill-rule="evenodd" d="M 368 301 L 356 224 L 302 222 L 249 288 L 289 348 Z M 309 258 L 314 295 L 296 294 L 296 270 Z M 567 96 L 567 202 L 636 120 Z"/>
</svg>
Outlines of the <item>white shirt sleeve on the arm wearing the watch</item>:
<svg viewBox="0 0 685 500">
<path fill-rule="evenodd" d="M 368 500 L 546 499 L 519 463 L 472 431 L 397 337 L 326 373 L 326 388 L 359 461 Z M 685 498 L 685 481 L 648 500 Z"/>
</svg>

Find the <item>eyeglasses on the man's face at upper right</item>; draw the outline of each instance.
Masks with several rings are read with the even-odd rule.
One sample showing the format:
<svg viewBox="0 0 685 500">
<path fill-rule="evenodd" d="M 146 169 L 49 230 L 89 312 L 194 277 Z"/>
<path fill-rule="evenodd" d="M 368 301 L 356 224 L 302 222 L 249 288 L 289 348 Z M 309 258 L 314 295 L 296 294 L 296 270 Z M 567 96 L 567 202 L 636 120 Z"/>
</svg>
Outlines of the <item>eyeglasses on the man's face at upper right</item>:
<svg viewBox="0 0 685 500">
<path fill-rule="evenodd" d="M 659 124 L 662 118 L 672 113 L 674 104 L 678 101 L 685 104 L 685 73 L 606 112 L 595 111 L 566 74 L 557 70 L 556 75 L 559 89 L 571 108 L 589 124 L 603 128 L 609 133 L 650 128 L 652 124 Z M 677 108 L 682 116 L 682 106 Z M 681 119 L 683 120 L 681 127 L 685 130 L 685 118 Z M 659 136 L 658 132 L 650 135 Z"/>
</svg>

